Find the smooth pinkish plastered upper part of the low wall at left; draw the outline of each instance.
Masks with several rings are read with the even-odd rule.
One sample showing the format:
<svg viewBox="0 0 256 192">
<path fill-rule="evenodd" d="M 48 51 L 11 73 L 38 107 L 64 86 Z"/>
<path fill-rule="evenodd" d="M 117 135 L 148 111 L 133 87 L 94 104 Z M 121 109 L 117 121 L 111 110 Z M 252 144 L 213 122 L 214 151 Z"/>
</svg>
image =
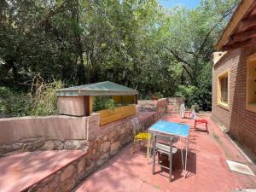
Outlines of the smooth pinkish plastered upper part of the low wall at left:
<svg viewBox="0 0 256 192">
<path fill-rule="evenodd" d="M 49 139 L 85 139 L 86 118 L 55 115 L 0 119 L 0 144 L 33 137 Z"/>
</svg>

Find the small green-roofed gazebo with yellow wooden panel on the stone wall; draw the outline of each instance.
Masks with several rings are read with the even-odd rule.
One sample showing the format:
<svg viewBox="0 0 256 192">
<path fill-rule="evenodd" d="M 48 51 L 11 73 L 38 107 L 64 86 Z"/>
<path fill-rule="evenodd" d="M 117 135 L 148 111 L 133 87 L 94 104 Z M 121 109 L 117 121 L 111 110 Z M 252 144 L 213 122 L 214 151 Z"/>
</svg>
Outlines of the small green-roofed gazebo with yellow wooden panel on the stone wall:
<svg viewBox="0 0 256 192">
<path fill-rule="evenodd" d="M 84 84 L 57 90 L 58 109 L 60 114 L 89 116 L 93 113 L 93 100 L 96 96 L 109 96 L 114 102 L 130 103 L 113 110 L 99 111 L 101 125 L 104 125 L 136 114 L 137 95 L 137 90 L 109 81 Z"/>
</svg>

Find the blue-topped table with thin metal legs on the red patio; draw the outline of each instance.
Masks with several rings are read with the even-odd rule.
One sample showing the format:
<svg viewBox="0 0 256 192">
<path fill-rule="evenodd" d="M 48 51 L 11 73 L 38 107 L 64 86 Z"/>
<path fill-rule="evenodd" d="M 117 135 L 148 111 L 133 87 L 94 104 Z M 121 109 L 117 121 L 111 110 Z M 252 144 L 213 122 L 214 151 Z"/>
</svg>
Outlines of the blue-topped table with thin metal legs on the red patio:
<svg viewBox="0 0 256 192">
<path fill-rule="evenodd" d="M 150 126 L 148 131 L 150 134 L 166 135 L 172 137 L 181 137 L 186 140 L 186 158 L 185 158 L 185 171 L 187 171 L 187 159 L 189 148 L 189 128 L 187 124 L 173 123 L 166 120 L 160 120 L 154 125 Z"/>
</svg>

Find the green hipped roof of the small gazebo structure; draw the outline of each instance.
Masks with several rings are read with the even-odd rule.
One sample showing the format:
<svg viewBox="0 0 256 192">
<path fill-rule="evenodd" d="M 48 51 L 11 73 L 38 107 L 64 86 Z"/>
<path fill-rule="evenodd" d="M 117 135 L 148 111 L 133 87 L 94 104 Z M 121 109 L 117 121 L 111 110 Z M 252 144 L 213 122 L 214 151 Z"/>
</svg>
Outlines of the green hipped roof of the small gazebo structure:
<svg viewBox="0 0 256 192">
<path fill-rule="evenodd" d="M 137 90 L 110 81 L 57 90 L 57 96 L 131 96 L 137 93 Z"/>
</svg>

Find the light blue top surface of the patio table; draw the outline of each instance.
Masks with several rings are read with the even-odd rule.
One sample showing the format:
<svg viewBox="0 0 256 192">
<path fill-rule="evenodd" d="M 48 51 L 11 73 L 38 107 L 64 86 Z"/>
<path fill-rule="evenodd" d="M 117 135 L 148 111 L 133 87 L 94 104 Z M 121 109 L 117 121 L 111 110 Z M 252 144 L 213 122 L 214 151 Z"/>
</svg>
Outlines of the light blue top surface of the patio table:
<svg viewBox="0 0 256 192">
<path fill-rule="evenodd" d="M 156 131 L 178 137 L 189 137 L 189 125 L 160 120 L 149 127 L 149 131 Z"/>
</svg>

